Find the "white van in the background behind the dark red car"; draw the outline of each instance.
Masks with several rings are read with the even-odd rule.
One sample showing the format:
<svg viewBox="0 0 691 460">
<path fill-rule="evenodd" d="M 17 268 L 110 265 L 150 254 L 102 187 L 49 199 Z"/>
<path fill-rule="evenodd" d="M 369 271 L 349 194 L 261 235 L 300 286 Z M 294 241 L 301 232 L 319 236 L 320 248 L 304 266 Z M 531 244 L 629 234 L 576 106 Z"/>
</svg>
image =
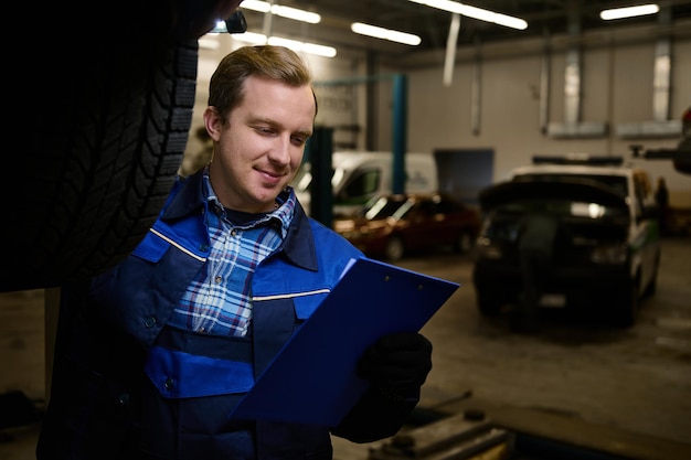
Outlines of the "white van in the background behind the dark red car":
<svg viewBox="0 0 691 460">
<path fill-rule="evenodd" d="M 340 151 L 331 157 L 333 175 L 333 216 L 351 215 L 373 196 L 391 193 L 393 186 L 393 153 L 382 151 Z M 300 167 L 293 186 L 309 214 L 309 185 L 312 175 L 309 163 Z M 405 192 L 437 191 L 437 164 L 430 153 L 405 154 Z"/>
</svg>

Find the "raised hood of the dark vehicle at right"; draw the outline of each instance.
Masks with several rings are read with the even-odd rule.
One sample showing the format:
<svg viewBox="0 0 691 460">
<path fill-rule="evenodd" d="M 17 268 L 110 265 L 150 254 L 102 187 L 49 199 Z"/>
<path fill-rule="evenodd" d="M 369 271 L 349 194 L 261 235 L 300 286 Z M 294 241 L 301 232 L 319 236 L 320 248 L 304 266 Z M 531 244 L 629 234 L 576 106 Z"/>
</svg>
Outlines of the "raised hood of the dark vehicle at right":
<svg viewBox="0 0 691 460">
<path fill-rule="evenodd" d="M 478 196 L 483 211 L 519 200 L 573 200 L 606 206 L 626 207 L 626 196 L 596 181 L 573 179 L 563 181 L 533 181 L 521 178 L 490 185 Z"/>
</svg>

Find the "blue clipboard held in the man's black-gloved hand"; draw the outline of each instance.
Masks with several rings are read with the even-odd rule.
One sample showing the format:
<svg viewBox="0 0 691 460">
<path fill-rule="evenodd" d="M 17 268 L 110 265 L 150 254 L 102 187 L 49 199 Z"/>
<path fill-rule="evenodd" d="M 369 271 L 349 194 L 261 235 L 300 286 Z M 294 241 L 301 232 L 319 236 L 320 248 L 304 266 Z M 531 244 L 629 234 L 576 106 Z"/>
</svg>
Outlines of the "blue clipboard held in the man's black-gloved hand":
<svg viewBox="0 0 691 460">
<path fill-rule="evenodd" d="M 419 331 L 459 286 L 355 259 L 230 417 L 338 425 L 369 386 L 355 374 L 365 349 L 391 332 Z"/>
</svg>

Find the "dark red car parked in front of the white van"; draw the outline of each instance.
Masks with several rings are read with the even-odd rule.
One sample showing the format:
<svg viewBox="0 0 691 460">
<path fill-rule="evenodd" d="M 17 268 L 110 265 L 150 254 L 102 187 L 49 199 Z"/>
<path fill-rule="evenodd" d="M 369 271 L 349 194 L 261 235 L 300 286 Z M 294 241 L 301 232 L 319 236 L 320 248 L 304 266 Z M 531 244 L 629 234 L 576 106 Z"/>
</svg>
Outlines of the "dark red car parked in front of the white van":
<svg viewBox="0 0 691 460">
<path fill-rule="evenodd" d="M 479 212 L 451 196 L 390 194 L 370 200 L 334 229 L 369 256 L 400 260 L 408 252 L 450 246 L 472 248 L 480 227 Z"/>
</svg>

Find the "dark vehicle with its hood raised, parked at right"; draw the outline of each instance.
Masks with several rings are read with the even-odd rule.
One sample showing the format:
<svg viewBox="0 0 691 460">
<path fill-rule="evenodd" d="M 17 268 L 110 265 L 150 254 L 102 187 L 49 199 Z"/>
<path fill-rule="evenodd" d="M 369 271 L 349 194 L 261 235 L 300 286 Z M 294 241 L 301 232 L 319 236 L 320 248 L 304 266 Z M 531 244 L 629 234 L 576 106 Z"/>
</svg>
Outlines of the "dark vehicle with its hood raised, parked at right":
<svg viewBox="0 0 691 460">
<path fill-rule="evenodd" d="M 479 195 L 483 224 L 472 282 L 482 315 L 500 313 L 522 293 L 519 229 L 529 213 L 557 220 L 541 308 L 595 309 L 620 327 L 636 322 L 656 290 L 660 264 L 658 208 L 650 176 L 620 157 L 535 157 L 508 181 Z"/>
</svg>

